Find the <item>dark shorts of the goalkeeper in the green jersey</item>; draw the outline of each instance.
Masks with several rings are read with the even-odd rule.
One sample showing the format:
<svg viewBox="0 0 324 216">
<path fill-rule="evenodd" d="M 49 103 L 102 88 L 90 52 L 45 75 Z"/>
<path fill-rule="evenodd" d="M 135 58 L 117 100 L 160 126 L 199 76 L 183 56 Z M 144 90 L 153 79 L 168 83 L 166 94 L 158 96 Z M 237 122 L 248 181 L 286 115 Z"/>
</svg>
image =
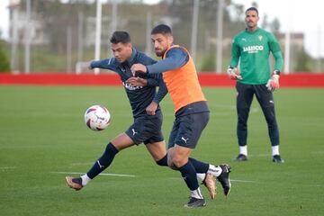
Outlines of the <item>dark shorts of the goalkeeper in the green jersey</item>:
<svg viewBox="0 0 324 216">
<path fill-rule="evenodd" d="M 254 94 L 262 108 L 275 106 L 274 95 L 267 90 L 266 84 L 249 85 L 237 82 L 236 89 L 238 109 L 250 108 Z"/>
</svg>

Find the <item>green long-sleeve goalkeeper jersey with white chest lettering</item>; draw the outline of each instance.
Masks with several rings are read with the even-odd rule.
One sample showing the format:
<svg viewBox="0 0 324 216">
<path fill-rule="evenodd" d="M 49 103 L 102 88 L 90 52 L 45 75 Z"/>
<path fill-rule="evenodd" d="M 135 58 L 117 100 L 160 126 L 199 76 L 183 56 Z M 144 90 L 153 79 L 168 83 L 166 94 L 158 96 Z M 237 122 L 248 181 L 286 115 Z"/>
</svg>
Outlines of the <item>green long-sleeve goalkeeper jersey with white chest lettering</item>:
<svg viewBox="0 0 324 216">
<path fill-rule="evenodd" d="M 275 35 L 263 29 L 241 31 L 233 39 L 229 67 L 237 67 L 240 58 L 238 82 L 250 85 L 266 84 L 270 78 L 270 51 L 275 57 L 275 70 L 282 70 L 284 59 Z"/>
</svg>

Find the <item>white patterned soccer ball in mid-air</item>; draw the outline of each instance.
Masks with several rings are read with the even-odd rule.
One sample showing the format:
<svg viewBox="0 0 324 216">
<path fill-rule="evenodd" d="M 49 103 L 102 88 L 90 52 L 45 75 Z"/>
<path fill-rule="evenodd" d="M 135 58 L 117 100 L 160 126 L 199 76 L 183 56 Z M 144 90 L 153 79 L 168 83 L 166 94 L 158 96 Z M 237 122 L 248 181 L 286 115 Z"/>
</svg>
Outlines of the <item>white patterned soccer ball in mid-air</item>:
<svg viewBox="0 0 324 216">
<path fill-rule="evenodd" d="M 91 130 L 103 130 L 111 121 L 111 114 L 102 105 L 93 105 L 85 111 L 85 124 Z"/>
</svg>

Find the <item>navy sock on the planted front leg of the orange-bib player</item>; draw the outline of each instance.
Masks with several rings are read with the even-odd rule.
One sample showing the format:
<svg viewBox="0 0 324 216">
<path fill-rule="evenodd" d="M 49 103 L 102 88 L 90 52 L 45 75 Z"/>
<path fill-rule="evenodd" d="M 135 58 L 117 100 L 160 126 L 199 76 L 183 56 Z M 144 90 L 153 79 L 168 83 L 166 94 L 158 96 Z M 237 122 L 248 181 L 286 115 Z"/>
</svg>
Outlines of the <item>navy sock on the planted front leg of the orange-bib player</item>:
<svg viewBox="0 0 324 216">
<path fill-rule="evenodd" d="M 197 180 L 197 173 L 193 167 L 193 164 L 188 161 L 184 166 L 178 168 L 181 172 L 181 175 L 184 178 L 185 184 L 187 184 L 188 188 L 191 191 L 197 190 L 199 187 L 198 180 Z"/>
</svg>

